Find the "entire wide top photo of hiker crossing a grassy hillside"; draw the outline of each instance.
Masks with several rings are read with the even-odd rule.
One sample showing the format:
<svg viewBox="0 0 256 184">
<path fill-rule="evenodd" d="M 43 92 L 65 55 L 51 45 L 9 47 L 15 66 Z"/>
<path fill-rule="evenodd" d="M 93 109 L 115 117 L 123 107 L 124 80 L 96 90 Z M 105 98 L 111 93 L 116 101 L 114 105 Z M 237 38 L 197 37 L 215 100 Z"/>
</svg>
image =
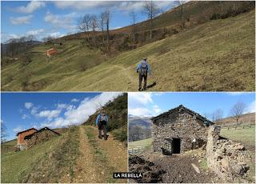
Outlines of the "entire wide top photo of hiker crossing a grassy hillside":
<svg viewBox="0 0 256 184">
<path fill-rule="evenodd" d="M 1 1 L 2 91 L 254 91 L 255 1 Z"/>
</svg>

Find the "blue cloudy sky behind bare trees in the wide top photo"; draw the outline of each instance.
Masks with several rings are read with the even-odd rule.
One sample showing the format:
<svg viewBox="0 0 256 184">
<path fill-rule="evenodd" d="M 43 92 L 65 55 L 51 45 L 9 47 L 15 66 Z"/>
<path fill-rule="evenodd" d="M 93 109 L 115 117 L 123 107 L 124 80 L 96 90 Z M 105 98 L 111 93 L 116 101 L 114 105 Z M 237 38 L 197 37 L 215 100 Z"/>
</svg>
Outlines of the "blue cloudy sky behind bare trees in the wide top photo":
<svg viewBox="0 0 256 184">
<path fill-rule="evenodd" d="M 1 42 L 33 34 L 38 40 L 46 36 L 61 37 L 78 32 L 78 20 L 84 14 L 98 15 L 110 10 L 110 29 L 130 25 L 130 11 L 137 14 L 137 22 L 145 2 L 140 1 L 1 1 Z M 177 5 L 173 1 L 155 1 L 162 11 Z"/>
</svg>

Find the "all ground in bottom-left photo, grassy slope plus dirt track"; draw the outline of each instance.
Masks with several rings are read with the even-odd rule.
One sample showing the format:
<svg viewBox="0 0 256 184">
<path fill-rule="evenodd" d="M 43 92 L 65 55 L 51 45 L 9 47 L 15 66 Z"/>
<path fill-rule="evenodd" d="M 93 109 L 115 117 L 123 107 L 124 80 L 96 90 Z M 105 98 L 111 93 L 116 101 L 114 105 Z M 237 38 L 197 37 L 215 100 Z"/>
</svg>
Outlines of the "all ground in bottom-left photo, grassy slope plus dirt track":
<svg viewBox="0 0 256 184">
<path fill-rule="evenodd" d="M 127 171 L 126 147 L 97 133 L 92 126 L 73 126 L 30 150 L 2 152 L 1 182 L 126 182 L 112 178 Z"/>
</svg>

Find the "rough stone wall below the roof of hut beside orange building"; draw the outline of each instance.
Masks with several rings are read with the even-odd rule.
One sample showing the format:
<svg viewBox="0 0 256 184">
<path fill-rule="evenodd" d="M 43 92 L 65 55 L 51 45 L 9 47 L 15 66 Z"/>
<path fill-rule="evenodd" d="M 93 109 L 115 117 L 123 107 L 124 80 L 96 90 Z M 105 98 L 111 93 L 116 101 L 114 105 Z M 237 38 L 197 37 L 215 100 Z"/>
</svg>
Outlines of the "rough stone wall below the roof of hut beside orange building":
<svg viewBox="0 0 256 184">
<path fill-rule="evenodd" d="M 50 130 L 42 130 L 40 132 L 37 132 L 34 135 L 32 135 L 30 139 L 26 140 L 26 149 L 30 149 L 39 142 L 48 141 L 50 140 L 50 138 L 53 138 L 54 136 L 58 136 L 58 134 L 55 134 Z"/>
</svg>

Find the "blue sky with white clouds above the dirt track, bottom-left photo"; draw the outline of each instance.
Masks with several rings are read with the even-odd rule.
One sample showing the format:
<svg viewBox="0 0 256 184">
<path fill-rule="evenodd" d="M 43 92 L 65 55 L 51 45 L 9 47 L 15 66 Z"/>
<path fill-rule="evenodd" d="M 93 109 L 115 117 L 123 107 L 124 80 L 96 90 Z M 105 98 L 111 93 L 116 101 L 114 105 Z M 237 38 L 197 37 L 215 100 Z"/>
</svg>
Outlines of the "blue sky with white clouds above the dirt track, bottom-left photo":
<svg viewBox="0 0 256 184">
<path fill-rule="evenodd" d="M 1 122 L 8 139 L 31 127 L 50 128 L 78 125 L 121 93 L 2 93 Z"/>
</svg>

